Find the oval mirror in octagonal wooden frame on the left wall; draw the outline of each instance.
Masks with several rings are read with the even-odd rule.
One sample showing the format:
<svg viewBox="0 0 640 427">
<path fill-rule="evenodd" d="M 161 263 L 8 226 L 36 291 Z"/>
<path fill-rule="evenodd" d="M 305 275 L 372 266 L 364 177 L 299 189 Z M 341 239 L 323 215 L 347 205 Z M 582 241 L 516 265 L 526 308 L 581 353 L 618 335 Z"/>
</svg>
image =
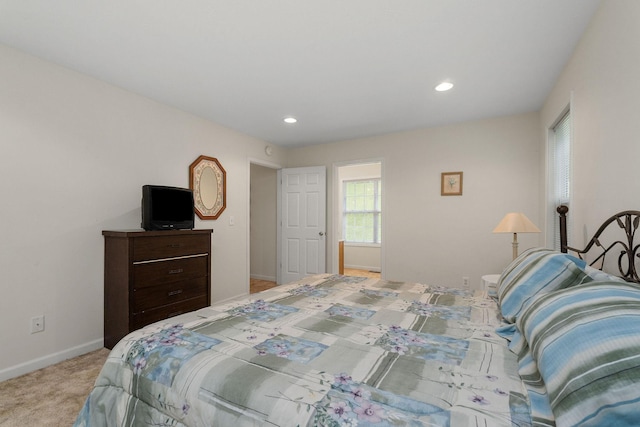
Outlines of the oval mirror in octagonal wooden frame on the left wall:
<svg viewBox="0 0 640 427">
<path fill-rule="evenodd" d="M 227 207 L 227 172 L 215 157 L 200 156 L 191 163 L 189 188 L 200 219 L 217 219 Z"/>
</svg>

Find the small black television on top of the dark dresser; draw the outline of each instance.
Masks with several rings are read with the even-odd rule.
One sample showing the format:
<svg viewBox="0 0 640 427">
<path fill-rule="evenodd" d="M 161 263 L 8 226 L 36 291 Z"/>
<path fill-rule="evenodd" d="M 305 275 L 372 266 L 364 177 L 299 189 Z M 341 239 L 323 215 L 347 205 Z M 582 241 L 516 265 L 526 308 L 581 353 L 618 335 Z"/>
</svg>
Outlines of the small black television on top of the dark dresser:
<svg viewBox="0 0 640 427">
<path fill-rule="evenodd" d="M 142 186 L 142 228 L 184 230 L 193 228 L 193 191 L 163 185 Z"/>
</svg>

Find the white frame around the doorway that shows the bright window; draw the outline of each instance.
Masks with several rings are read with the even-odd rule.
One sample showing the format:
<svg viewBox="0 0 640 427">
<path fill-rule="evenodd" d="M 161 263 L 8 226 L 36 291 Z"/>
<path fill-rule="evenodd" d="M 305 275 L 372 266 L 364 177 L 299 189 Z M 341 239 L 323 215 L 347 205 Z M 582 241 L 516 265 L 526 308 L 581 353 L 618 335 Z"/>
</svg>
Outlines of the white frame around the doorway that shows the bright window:
<svg viewBox="0 0 640 427">
<path fill-rule="evenodd" d="M 342 201 L 340 200 L 340 179 L 339 179 L 339 169 L 344 166 L 356 166 L 356 165 L 364 165 L 369 163 L 380 163 L 380 185 L 382 187 L 382 224 L 381 224 L 381 245 L 380 245 L 380 278 L 385 279 L 386 277 L 386 256 L 385 256 L 385 236 L 386 236 L 386 220 L 384 212 L 387 210 L 387 190 L 385 185 L 385 172 L 384 172 L 384 157 L 374 157 L 370 159 L 358 159 L 358 160 L 347 160 L 343 162 L 335 162 L 332 164 L 332 205 L 331 206 L 331 224 L 328 225 L 328 229 L 331 229 L 331 233 L 327 234 L 327 236 L 331 236 L 331 241 L 327 239 L 327 245 L 329 245 L 329 251 L 331 252 L 331 268 L 330 271 L 333 274 L 338 274 L 339 270 L 339 253 L 338 253 L 338 242 L 342 237 L 342 230 L 338 226 L 340 224 L 340 205 Z M 335 248 L 334 248 L 335 247 Z"/>
</svg>

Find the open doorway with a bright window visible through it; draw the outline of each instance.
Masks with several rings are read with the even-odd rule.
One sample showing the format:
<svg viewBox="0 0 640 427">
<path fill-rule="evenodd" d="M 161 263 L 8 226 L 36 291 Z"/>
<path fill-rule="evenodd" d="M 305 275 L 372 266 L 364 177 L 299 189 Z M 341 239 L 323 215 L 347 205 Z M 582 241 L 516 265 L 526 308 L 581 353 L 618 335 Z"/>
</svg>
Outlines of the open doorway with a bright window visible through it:
<svg viewBox="0 0 640 427">
<path fill-rule="evenodd" d="M 345 274 L 365 277 L 382 275 L 382 166 L 382 160 L 336 165 L 334 223 L 337 225 L 338 241 L 343 242 L 343 255 L 340 258 L 343 259 Z M 340 267 L 336 266 L 335 271 Z"/>
</svg>

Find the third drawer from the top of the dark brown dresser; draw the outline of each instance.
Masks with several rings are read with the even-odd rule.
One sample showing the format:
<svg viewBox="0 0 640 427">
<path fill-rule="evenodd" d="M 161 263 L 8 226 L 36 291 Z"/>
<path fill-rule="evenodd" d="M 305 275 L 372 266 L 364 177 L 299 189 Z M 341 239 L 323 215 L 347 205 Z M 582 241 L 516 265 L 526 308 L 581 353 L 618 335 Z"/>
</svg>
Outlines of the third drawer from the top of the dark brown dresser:
<svg viewBox="0 0 640 427">
<path fill-rule="evenodd" d="M 134 288 L 132 309 L 134 312 L 149 310 L 202 295 L 207 295 L 206 277 Z"/>
</svg>

